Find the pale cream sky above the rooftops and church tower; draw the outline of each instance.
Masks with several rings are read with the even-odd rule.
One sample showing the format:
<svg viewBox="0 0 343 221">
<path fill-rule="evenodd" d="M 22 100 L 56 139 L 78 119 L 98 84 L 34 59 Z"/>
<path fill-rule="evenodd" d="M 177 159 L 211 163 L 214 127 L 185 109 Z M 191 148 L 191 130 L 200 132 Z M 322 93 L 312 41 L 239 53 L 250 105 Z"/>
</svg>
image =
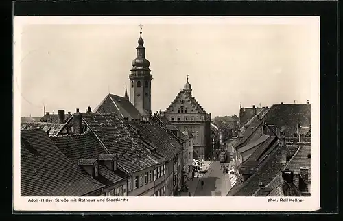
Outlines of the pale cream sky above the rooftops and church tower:
<svg viewBox="0 0 343 221">
<path fill-rule="evenodd" d="M 154 78 L 152 113 L 169 106 L 187 75 L 193 97 L 211 117 L 238 115 L 240 102 L 250 107 L 311 100 L 310 79 L 319 67 L 316 25 L 112 19 L 21 24 L 21 53 L 14 53 L 21 116 L 42 117 L 43 106 L 50 113 L 94 109 L 109 92 L 123 96 L 126 85 L 130 93 L 139 24 Z"/>
</svg>

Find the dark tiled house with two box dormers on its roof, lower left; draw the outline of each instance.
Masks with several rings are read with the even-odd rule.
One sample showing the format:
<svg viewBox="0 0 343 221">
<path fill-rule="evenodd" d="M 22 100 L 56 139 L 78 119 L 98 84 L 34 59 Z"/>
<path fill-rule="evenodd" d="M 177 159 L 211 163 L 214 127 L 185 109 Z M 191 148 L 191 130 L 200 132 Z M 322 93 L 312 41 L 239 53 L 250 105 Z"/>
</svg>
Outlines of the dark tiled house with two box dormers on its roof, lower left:
<svg viewBox="0 0 343 221">
<path fill-rule="evenodd" d="M 88 130 L 51 139 L 84 176 L 104 185 L 100 196 L 127 196 L 129 175 L 117 167 L 117 156 L 108 154 L 93 133 Z M 97 174 L 89 170 L 93 166 L 97 167 Z"/>
</svg>

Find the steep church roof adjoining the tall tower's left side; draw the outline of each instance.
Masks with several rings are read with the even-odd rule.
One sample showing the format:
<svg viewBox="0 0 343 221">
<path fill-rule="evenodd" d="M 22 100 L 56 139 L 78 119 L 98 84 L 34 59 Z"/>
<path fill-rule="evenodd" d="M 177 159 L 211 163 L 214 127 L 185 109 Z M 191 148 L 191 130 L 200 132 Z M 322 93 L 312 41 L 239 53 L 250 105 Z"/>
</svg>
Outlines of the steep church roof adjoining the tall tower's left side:
<svg viewBox="0 0 343 221">
<path fill-rule="evenodd" d="M 141 113 L 125 97 L 109 94 L 95 108 L 94 113 L 117 113 L 129 119 L 141 119 Z"/>
</svg>

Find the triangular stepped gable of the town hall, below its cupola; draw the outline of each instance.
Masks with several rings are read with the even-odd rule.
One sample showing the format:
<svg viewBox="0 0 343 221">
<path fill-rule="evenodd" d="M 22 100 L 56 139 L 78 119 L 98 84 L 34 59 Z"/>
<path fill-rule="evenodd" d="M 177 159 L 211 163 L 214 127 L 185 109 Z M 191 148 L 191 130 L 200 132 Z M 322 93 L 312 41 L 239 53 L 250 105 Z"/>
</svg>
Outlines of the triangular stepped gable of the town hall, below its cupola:
<svg viewBox="0 0 343 221">
<path fill-rule="evenodd" d="M 205 113 L 205 110 L 198 104 L 196 99 L 187 95 L 184 90 L 181 90 L 178 95 L 176 95 L 166 112 L 177 111 L 180 106 L 187 108 L 187 113 Z"/>
</svg>

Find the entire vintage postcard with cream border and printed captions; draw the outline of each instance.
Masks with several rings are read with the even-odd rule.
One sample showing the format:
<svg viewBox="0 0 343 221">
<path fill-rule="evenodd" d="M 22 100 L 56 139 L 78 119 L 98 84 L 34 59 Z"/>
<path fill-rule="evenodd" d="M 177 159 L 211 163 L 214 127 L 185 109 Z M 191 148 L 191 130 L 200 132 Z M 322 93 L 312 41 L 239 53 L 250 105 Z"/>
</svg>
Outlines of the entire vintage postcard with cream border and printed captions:
<svg viewBox="0 0 343 221">
<path fill-rule="evenodd" d="M 14 208 L 318 209 L 319 42 L 310 16 L 15 17 Z"/>
</svg>

